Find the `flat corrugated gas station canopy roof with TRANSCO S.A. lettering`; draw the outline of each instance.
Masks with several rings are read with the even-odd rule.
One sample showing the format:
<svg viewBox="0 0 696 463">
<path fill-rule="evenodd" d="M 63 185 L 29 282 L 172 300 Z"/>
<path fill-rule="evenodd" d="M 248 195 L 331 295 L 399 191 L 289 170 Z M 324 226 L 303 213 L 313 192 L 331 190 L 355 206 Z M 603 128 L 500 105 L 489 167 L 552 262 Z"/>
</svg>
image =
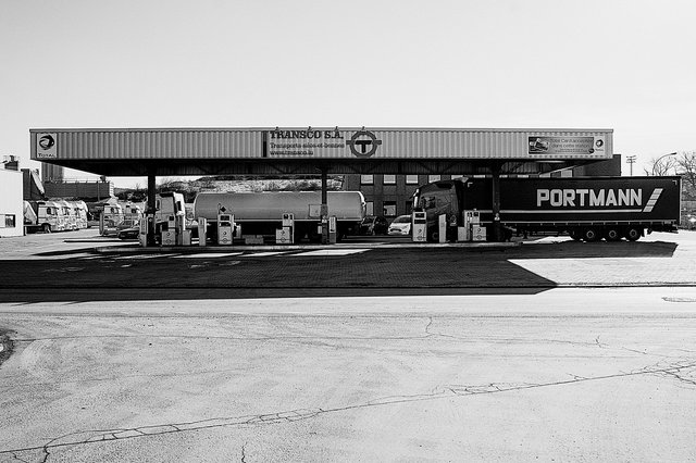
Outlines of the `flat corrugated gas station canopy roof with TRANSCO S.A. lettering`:
<svg viewBox="0 0 696 463">
<path fill-rule="evenodd" d="M 107 176 L 537 174 L 612 159 L 612 129 L 40 128 L 32 159 Z"/>
</svg>

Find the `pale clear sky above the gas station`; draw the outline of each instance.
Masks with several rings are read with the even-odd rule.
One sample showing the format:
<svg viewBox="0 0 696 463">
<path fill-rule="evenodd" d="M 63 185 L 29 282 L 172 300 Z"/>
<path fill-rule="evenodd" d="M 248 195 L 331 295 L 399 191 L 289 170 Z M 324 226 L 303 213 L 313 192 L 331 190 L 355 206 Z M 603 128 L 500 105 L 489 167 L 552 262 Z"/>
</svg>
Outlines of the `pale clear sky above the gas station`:
<svg viewBox="0 0 696 463">
<path fill-rule="evenodd" d="M 695 45 L 693 0 L 0 0 L 0 157 L 38 168 L 29 128 L 612 128 L 637 175 L 696 150 Z"/>
</svg>

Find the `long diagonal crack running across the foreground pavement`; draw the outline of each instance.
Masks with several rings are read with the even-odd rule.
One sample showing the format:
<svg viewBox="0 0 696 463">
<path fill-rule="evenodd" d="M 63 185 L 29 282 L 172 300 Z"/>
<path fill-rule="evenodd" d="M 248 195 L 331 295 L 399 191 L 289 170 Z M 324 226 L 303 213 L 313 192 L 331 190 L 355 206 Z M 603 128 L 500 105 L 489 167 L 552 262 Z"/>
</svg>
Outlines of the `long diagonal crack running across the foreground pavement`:
<svg viewBox="0 0 696 463">
<path fill-rule="evenodd" d="M 631 376 L 642 375 L 656 375 L 658 377 L 672 377 L 680 383 L 685 383 L 691 386 L 696 386 L 696 361 L 682 360 L 676 363 L 664 364 L 666 362 L 658 362 L 654 365 L 648 365 L 643 368 L 634 370 L 631 372 L 620 372 L 611 375 L 601 375 L 593 377 L 583 377 L 572 375 L 572 379 L 549 381 L 549 383 L 488 383 L 484 385 L 440 385 L 436 386 L 430 393 L 418 395 L 403 395 L 403 396 L 388 396 L 378 399 L 373 399 L 363 403 L 357 403 L 346 406 L 335 408 L 316 408 L 316 409 L 298 409 L 277 413 L 246 415 L 246 416 L 233 416 L 233 417 L 215 417 L 208 420 L 200 420 L 195 422 L 172 423 L 153 426 L 140 426 L 134 428 L 116 428 L 116 429 L 100 429 L 100 430 L 82 430 L 75 433 L 69 433 L 63 436 L 59 436 L 48 440 L 42 446 L 26 447 L 23 449 L 9 449 L 0 450 L 1 454 L 12 454 L 16 460 L 21 460 L 17 456 L 20 452 L 30 452 L 36 450 L 42 450 L 45 456 L 44 462 L 49 456 L 49 449 L 75 447 L 80 445 L 89 445 L 97 442 L 104 442 L 111 440 L 132 439 L 140 437 L 160 436 L 173 433 L 186 433 L 191 430 L 219 428 L 219 427 L 249 427 L 260 425 L 277 425 L 289 424 L 297 421 L 314 418 L 321 414 L 338 413 L 351 410 L 360 410 L 372 406 L 385 406 L 398 403 L 419 402 L 426 400 L 440 400 L 457 397 L 469 397 L 477 395 L 488 393 L 502 393 L 515 390 L 536 389 L 567 386 L 572 384 L 596 381 L 605 379 L 623 378 Z M 685 373 L 685 374 L 684 374 Z M 693 378 L 691 377 L 693 376 Z M 246 446 L 246 443 L 245 443 Z M 243 446 L 243 461 L 246 459 L 245 447 Z"/>
</svg>

